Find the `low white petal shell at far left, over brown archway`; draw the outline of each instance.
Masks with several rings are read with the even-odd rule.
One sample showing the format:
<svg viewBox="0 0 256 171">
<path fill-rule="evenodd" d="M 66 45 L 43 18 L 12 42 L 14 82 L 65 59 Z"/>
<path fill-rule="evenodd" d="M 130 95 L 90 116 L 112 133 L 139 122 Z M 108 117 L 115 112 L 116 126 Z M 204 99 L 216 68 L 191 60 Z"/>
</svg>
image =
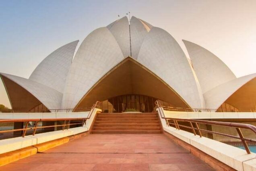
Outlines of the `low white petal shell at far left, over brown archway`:
<svg viewBox="0 0 256 171">
<path fill-rule="evenodd" d="M 0 75 L 3 75 L 4 77 L 7 77 L 8 79 L 19 84 L 21 87 L 35 96 L 35 98 L 37 98 L 48 109 L 61 108 L 62 93 L 58 92 L 57 90 L 23 77 L 18 77 L 6 73 L 0 73 Z"/>
</svg>

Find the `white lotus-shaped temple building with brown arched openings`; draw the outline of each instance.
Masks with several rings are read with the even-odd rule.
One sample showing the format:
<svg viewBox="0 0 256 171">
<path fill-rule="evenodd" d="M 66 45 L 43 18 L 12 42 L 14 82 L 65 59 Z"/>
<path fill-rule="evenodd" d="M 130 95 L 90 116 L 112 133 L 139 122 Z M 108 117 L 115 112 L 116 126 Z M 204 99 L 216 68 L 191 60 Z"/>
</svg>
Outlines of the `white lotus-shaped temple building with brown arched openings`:
<svg viewBox="0 0 256 171">
<path fill-rule="evenodd" d="M 48 55 L 29 79 L 1 73 L 14 112 L 78 111 L 102 102 L 106 112 L 152 112 L 165 106 L 218 111 L 256 109 L 256 73 L 237 78 L 213 53 L 132 16 L 92 31 L 78 46 Z M 76 51 L 77 48 L 77 51 Z"/>
</svg>

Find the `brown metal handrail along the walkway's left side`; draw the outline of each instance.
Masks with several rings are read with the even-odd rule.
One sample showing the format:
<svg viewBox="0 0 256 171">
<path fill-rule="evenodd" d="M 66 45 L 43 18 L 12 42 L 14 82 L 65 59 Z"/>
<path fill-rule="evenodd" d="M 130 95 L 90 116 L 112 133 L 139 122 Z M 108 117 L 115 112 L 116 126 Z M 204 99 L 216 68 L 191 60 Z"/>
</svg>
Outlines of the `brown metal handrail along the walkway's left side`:
<svg viewBox="0 0 256 171">
<path fill-rule="evenodd" d="M 33 129 L 33 135 L 35 135 L 36 130 L 39 128 L 51 128 L 51 127 L 62 126 L 62 130 L 64 130 L 66 126 L 70 126 L 70 125 L 81 124 L 81 126 L 83 126 L 86 123 L 86 120 L 91 118 L 93 110 L 99 106 L 99 103 L 100 102 L 97 101 L 95 104 L 93 104 L 93 106 L 91 107 L 91 110 L 86 118 L 0 119 L 0 123 L 2 123 L 2 122 L 26 122 L 25 128 L 13 129 L 13 130 L 0 130 L 0 133 L 23 131 L 22 137 L 25 137 L 27 130 L 32 130 L 32 129 Z M 70 124 L 71 120 L 82 120 L 82 122 Z M 38 122 L 41 122 L 41 121 L 64 121 L 64 124 L 50 125 L 50 126 L 37 126 Z M 35 126 L 28 127 L 29 122 L 35 122 Z"/>
</svg>

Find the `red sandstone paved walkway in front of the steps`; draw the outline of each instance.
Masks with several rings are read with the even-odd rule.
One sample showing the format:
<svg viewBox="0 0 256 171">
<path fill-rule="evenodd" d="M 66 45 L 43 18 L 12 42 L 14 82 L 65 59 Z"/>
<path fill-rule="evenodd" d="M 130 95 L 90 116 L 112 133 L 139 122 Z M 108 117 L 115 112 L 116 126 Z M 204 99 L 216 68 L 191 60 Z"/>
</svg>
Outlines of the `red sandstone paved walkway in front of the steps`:
<svg viewBox="0 0 256 171">
<path fill-rule="evenodd" d="M 0 167 L 0 171 L 213 170 L 164 134 L 89 134 Z"/>
</svg>

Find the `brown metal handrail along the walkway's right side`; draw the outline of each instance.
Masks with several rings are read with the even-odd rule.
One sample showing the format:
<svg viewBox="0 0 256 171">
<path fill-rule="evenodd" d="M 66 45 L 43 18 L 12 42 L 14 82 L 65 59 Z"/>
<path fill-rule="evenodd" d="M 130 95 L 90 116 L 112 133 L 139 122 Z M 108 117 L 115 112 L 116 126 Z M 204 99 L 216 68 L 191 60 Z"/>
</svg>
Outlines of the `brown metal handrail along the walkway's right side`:
<svg viewBox="0 0 256 171">
<path fill-rule="evenodd" d="M 196 120 L 196 119 L 181 119 L 181 118 L 168 118 L 165 117 L 164 115 L 164 110 L 163 110 L 163 106 L 161 106 L 160 102 L 156 101 L 155 102 L 157 108 L 159 109 L 159 114 L 161 116 L 162 119 L 165 119 L 166 124 L 168 126 L 173 125 L 175 126 L 176 129 L 180 130 L 180 127 L 184 127 L 184 128 L 189 128 L 192 130 L 192 132 L 194 133 L 194 135 L 196 135 L 196 131 L 198 132 L 198 135 L 200 137 L 202 137 L 201 131 L 203 132 L 208 132 L 211 134 L 219 134 L 222 136 L 227 136 L 227 137 L 231 137 L 231 138 L 236 138 L 236 139 L 240 139 L 244 145 L 244 148 L 246 149 L 246 152 L 248 154 L 250 154 L 250 149 L 247 145 L 247 141 L 248 142 L 253 142 L 256 143 L 256 140 L 252 140 L 250 138 L 244 138 L 244 135 L 242 134 L 242 131 L 240 129 L 247 129 L 247 130 L 251 130 L 252 132 L 254 132 L 254 134 L 256 134 L 256 126 L 250 125 L 250 124 L 240 124 L 240 123 L 232 123 L 232 122 L 218 122 L 218 121 L 209 121 L 209 120 Z M 170 120 L 173 120 L 173 123 L 169 122 Z M 190 124 L 190 126 L 185 126 L 185 125 L 181 125 L 178 124 L 178 121 L 183 121 L 183 122 L 188 122 Z M 194 123 L 194 126 L 193 126 Z M 227 127 L 232 127 L 235 128 L 237 130 L 237 133 L 239 136 L 234 136 L 234 135 L 229 135 L 229 134 L 224 134 L 221 132 L 215 132 L 215 131 L 211 131 L 211 130 L 204 130 L 202 128 L 199 128 L 198 124 L 208 124 L 208 125 L 218 125 L 218 126 L 227 126 Z"/>
</svg>

